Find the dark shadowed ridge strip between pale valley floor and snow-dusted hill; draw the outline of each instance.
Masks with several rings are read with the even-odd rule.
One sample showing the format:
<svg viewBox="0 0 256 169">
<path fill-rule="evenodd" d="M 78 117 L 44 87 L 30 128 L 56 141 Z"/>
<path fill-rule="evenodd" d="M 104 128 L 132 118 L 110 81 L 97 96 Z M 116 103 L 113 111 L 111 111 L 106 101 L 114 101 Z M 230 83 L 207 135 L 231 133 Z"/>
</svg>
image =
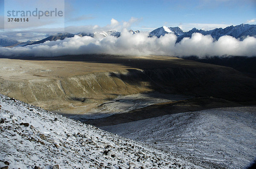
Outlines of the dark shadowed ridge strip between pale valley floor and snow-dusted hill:
<svg viewBox="0 0 256 169">
<path fill-rule="evenodd" d="M 94 125 L 96 127 L 111 126 L 168 114 L 194 112 L 218 107 L 240 106 L 241 104 L 224 99 L 216 99 L 213 97 L 198 97 L 180 101 L 153 104 L 151 106 L 132 110 L 127 113 L 114 114 L 105 118 L 91 119 L 83 122 L 86 124 Z"/>
</svg>

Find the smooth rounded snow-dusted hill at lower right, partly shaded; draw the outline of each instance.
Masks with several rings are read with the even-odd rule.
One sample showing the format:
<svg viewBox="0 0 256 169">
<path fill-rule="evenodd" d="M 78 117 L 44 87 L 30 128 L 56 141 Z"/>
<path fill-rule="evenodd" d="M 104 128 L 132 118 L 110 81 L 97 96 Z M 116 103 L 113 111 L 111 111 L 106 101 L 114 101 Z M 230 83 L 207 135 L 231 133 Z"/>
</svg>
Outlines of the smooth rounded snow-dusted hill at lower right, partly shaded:
<svg viewBox="0 0 256 169">
<path fill-rule="evenodd" d="M 191 161 L 244 168 L 256 158 L 256 107 L 228 107 L 164 115 L 101 127 Z"/>
</svg>

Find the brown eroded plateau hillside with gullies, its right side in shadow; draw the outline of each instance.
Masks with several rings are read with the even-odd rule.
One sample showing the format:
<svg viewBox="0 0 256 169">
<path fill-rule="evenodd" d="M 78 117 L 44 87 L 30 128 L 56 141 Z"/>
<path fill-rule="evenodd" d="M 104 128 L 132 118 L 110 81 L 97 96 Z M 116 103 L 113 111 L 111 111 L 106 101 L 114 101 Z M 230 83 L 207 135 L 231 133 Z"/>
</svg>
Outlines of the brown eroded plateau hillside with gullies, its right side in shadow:
<svg viewBox="0 0 256 169">
<path fill-rule="evenodd" d="M 175 57 L 20 59 L 0 59 L 0 93 L 62 113 L 84 113 L 119 95 L 151 91 L 256 100 L 256 79 L 233 68 Z"/>
</svg>

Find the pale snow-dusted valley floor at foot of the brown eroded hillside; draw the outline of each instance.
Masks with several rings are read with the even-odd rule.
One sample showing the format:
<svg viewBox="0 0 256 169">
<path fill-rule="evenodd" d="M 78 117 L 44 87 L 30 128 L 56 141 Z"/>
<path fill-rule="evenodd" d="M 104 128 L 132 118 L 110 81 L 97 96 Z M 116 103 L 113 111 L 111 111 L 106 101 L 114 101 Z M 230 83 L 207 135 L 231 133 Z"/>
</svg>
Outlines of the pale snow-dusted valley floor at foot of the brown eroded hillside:
<svg viewBox="0 0 256 169">
<path fill-rule="evenodd" d="M 192 98 L 192 96 L 163 94 L 159 92 L 118 96 L 112 101 L 98 105 L 86 114 L 70 115 L 68 117 L 79 121 L 86 121 L 88 119 L 104 118 L 117 113 L 129 112 L 131 110 L 147 107 L 152 104 L 185 100 L 190 98 Z"/>
</svg>

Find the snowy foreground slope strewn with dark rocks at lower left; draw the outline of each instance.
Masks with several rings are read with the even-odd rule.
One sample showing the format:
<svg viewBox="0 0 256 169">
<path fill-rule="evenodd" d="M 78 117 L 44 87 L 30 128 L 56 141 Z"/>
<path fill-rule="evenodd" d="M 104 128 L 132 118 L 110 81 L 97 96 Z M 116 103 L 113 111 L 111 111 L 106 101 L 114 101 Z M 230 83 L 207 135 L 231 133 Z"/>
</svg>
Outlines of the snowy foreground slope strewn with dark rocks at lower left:
<svg viewBox="0 0 256 169">
<path fill-rule="evenodd" d="M 4 95 L 0 105 L 0 168 L 202 168 Z"/>
</svg>

